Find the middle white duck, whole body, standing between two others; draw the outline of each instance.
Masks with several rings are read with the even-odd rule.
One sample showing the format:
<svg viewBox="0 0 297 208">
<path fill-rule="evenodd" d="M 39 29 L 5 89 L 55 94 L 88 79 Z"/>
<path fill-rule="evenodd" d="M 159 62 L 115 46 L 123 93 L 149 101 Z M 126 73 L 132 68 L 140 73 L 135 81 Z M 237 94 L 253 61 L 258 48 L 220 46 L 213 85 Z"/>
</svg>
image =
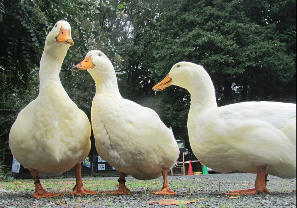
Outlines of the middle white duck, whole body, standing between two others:
<svg viewBox="0 0 297 208">
<path fill-rule="evenodd" d="M 176 163 L 179 149 L 172 130 L 152 109 L 121 97 L 113 65 L 101 51 L 89 51 L 72 69 L 88 69 L 96 83 L 92 128 L 98 154 L 120 172 L 119 190 L 113 193 L 129 193 L 127 173 L 140 180 L 163 175 L 163 188 L 155 193 L 173 194 L 167 172 Z"/>
</svg>

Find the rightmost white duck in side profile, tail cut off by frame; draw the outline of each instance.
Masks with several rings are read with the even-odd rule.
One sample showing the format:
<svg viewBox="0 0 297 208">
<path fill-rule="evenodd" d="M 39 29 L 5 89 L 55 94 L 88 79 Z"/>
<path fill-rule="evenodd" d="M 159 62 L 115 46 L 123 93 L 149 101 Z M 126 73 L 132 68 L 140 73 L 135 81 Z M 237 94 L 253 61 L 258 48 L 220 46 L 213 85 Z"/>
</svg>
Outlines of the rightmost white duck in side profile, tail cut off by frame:
<svg viewBox="0 0 297 208">
<path fill-rule="evenodd" d="M 257 173 L 255 188 L 228 195 L 270 193 L 267 174 L 296 178 L 296 104 L 242 102 L 217 107 L 208 73 L 194 63 L 176 63 L 153 90 L 170 85 L 191 94 L 189 141 L 195 156 L 214 171 Z"/>
</svg>

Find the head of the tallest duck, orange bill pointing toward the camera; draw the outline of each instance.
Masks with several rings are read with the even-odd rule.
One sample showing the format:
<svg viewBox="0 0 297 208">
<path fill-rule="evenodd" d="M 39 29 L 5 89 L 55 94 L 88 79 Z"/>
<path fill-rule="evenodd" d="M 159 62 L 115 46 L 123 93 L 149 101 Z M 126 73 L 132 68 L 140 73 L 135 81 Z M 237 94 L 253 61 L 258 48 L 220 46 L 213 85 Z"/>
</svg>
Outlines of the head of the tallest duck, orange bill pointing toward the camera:
<svg viewBox="0 0 297 208">
<path fill-rule="evenodd" d="M 71 45 L 74 45 L 74 42 L 69 23 L 64 20 L 58 21 L 45 39 L 45 50 L 59 54 L 61 47 L 67 52 Z"/>
</svg>

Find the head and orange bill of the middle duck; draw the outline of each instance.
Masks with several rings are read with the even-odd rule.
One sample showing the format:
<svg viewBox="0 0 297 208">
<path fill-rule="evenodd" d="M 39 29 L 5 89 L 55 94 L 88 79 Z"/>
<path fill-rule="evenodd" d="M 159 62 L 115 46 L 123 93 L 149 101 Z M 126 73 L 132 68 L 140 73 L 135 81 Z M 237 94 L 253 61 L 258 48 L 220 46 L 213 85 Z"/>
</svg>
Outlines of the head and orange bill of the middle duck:
<svg viewBox="0 0 297 208">
<path fill-rule="evenodd" d="M 117 87 L 116 72 L 107 56 L 99 50 L 91 50 L 85 59 L 72 67 L 73 71 L 87 69 L 97 84 L 108 84 Z M 112 87 L 112 86 L 110 86 Z"/>
</svg>

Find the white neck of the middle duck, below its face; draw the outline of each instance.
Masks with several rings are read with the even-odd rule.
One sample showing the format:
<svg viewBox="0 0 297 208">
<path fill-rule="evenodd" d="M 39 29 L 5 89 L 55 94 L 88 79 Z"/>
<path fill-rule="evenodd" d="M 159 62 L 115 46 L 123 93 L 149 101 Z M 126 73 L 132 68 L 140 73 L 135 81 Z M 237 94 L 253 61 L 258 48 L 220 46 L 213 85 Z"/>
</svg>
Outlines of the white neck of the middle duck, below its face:
<svg viewBox="0 0 297 208">
<path fill-rule="evenodd" d="M 95 81 L 96 94 L 108 93 L 110 95 L 121 96 L 116 79 L 116 72 L 114 71 L 112 64 L 108 69 L 105 67 L 101 69 L 88 69 L 88 72 Z"/>
</svg>

